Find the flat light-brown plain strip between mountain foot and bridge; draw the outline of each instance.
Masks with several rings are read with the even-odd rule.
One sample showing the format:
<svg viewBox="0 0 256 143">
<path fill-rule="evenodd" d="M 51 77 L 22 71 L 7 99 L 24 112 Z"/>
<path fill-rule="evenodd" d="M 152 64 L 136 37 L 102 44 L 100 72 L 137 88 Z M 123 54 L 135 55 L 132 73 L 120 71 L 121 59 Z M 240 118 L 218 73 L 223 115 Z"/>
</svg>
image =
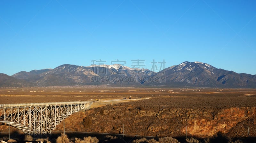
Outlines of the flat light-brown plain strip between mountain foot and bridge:
<svg viewBox="0 0 256 143">
<path fill-rule="evenodd" d="M 67 102 L 67 101 L 95 101 L 108 99 L 127 99 L 165 97 L 165 96 L 193 96 L 193 97 L 248 97 L 255 96 L 256 89 L 172 89 L 172 88 L 124 88 L 105 86 L 83 87 L 31 87 L 31 88 L 0 88 L 0 104 Z"/>
</svg>

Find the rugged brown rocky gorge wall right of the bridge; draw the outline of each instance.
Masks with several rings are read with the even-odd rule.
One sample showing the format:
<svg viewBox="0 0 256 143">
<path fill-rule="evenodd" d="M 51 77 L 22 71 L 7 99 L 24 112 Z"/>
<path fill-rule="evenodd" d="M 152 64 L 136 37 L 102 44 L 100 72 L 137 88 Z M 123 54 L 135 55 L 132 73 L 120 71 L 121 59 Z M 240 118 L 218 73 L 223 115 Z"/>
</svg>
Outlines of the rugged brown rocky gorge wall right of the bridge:
<svg viewBox="0 0 256 143">
<path fill-rule="evenodd" d="M 249 125 L 250 137 L 256 137 L 255 113 L 255 107 L 231 107 L 219 111 L 162 108 L 154 111 L 125 104 L 91 109 L 80 117 L 79 122 L 70 116 L 66 122 L 70 120 L 73 123 L 66 130 L 72 131 L 79 126 L 76 130 L 82 132 L 122 134 L 124 124 L 125 134 L 184 137 L 187 126 L 187 136 L 192 137 L 213 137 L 218 133 L 229 137 L 248 137 Z"/>
</svg>

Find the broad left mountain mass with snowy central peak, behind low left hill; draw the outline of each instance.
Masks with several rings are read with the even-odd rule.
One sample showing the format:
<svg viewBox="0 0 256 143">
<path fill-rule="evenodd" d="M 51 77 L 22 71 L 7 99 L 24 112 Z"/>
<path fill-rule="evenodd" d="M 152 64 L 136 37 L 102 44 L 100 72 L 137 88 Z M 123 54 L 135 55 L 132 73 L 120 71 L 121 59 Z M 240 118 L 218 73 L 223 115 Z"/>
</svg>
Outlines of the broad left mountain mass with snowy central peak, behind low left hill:
<svg viewBox="0 0 256 143">
<path fill-rule="evenodd" d="M 130 79 L 136 79 L 137 76 L 148 77 L 153 74 L 154 72 L 148 69 L 132 69 L 119 64 L 88 67 L 64 64 L 54 69 L 22 71 L 12 76 L 31 82 L 35 86 L 140 85 L 140 82 L 130 82 Z"/>
</svg>

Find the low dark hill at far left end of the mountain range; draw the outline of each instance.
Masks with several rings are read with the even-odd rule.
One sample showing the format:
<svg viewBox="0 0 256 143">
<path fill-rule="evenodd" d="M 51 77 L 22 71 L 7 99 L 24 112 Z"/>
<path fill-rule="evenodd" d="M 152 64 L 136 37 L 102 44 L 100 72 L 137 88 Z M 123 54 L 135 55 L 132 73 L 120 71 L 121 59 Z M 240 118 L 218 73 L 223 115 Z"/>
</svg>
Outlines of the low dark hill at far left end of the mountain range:
<svg viewBox="0 0 256 143">
<path fill-rule="evenodd" d="M 19 80 L 12 76 L 0 73 L 0 87 L 23 87 L 32 86 L 31 83 L 25 80 Z"/>
</svg>

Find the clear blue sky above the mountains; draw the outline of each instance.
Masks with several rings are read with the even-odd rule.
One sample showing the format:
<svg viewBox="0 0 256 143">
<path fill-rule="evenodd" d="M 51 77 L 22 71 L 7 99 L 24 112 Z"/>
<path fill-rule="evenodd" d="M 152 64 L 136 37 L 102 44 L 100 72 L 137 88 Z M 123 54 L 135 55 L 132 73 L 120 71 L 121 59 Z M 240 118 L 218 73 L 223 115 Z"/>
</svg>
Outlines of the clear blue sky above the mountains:
<svg viewBox="0 0 256 143">
<path fill-rule="evenodd" d="M 201 61 L 255 75 L 256 1 L 2 0 L 0 52 L 7 75 L 100 59 L 148 69 L 154 59 L 165 68 Z"/>
</svg>

